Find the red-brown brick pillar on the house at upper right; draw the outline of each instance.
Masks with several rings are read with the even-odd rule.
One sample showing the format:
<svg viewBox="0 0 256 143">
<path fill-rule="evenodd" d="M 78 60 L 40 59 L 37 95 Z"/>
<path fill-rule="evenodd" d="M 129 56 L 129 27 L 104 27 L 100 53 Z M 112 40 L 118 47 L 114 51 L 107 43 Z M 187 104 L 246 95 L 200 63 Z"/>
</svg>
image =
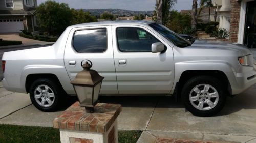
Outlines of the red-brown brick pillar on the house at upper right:
<svg viewBox="0 0 256 143">
<path fill-rule="evenodd" d="M 230 13 L 229 40 L 231 42 L 238 42 L 241 2 L 237 0 L 230 0 L 230 5 L 231 5 L 231 13 Z"/>
</svg>

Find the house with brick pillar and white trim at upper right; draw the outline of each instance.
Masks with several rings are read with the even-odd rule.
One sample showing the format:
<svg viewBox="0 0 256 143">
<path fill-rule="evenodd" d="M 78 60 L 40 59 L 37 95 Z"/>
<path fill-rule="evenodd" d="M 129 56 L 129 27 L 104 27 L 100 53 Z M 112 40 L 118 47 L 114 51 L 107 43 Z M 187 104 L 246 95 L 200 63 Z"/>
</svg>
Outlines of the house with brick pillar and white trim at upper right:
<svg viewBox="0 0 256 143">
<path fill-rule="evenodd" d="M 220 28 L 229 30 L 229 40 L 256 49 L 256 1 L 212 0 L 220 14 Z"/>
</svg>

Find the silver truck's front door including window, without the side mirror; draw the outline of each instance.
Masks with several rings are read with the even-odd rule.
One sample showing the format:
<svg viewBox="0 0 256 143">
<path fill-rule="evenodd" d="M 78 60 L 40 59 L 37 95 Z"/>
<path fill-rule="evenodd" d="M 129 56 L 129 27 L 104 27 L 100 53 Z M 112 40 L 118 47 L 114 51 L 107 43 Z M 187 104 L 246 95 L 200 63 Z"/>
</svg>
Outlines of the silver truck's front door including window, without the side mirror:
<svg viewBox="0 0 256 143">
<path fill-rule="evenodd" d="M 112 26 L 114 61 L 119 94 L 168 94 L 174 81 L 173 50 L 143 26 Z M 164 53 L 152 53 L 161 42 Z"/>
</svg>

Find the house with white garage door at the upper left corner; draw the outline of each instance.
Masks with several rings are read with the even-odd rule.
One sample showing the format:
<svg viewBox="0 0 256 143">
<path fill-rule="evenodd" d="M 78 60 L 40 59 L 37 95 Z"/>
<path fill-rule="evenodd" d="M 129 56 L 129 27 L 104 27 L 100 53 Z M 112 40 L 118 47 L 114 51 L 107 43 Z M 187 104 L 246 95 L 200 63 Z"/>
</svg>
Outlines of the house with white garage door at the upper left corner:
<svg viewBox="0 0 256 143">
<path fill-rule="evenodd" d="M 0 0 L 0 33 L 34 31 L 36 0 Z"/>
</svg>

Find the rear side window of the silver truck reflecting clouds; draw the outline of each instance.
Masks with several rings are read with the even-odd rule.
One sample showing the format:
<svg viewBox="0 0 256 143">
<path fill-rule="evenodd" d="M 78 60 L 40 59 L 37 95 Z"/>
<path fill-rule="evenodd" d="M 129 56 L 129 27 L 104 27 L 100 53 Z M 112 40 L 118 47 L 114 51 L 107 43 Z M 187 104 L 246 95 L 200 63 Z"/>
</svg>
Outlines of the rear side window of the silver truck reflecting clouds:
<svg viewBox="0 0 256 143">
<path fill-rule="evenodd" d="M 106 28 L 76 31 L 73 46 L 79 53 L 100 53 L 106 51 Z"/>
</svg>

